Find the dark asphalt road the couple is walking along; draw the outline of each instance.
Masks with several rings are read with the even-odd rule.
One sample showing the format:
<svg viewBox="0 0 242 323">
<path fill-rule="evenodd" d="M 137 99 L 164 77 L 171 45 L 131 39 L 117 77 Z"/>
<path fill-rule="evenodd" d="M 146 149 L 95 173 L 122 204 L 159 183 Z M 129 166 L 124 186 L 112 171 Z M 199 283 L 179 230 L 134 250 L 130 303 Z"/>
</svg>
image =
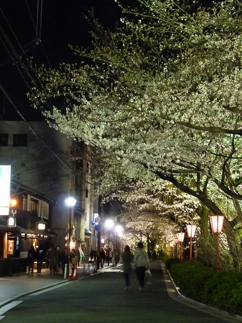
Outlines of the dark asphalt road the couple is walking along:
<svg viewBox="0 0 242 323">
<path fill-rule="evenodd" d="M 138 291 L 135 273 L 133 288 L 124 290 L 122 267 L 115 267 L 85 279 L 67 282 L 58 288 L 36 292 L 5 313 L 3 323 L 226 323 L 175 301 L 168 296 L 160 263 L 152 264 L 153 284 Z M 11 304 L 10 304 L 11 305 Z M 15 305 L 15 304 L 13 304 Z"/>
</svg>

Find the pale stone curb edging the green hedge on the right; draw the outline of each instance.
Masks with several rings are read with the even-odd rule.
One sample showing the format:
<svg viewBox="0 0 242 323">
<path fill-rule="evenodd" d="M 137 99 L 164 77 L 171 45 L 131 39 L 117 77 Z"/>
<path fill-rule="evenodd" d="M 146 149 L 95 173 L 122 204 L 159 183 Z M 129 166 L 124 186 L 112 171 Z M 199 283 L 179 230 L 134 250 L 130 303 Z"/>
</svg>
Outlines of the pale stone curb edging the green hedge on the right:
<svg viewBox="0 0 242 323">
<path fill-rule="evenodd" d="M 171 278 L 171 276 L 170 276 L 170 273 L 169 273 L 169 271 L 166 269 L 166 267 L 165 267 L 165 264 L 164 264 L 164 263 L 163 263 L 163 268 L 162 268 L 162 270 L 165 270 L 165 271 L 167 272 L 167 274 L 168 274 L 168 276 L 169 276 L 169 279 L 170 279 L 170 281 L 171 281 L 171 283 L 172 283 L 172 285 L 173 285 L 173 287 L 174 287 L 174 291 L 175 291 L 176 295 L 178 296 L 178 298 L 180 298 L 180 299 L 182 299 L 182 300 L 184 300 L 184 301 L 186 301 L 186 302 L 189 302 L 189 303 L 191 303 L 191 304 L 193 304 L 193 305 L 196 305 L 197 307 L 199 307 L 199 308 L 201 308 L 201 309 L 210 310 L 210 311 L 216 312 L 216 313 L 218 313 L 218 314 L 220 314 L 220 315 L 224 315 L 224 316 L 226 316 L 226 317 L 228 317 L 228 318 L 230 318 L 230 319 L 232 318 L 232 319 L 235 319 L 235 320 L 237 320 L 237 321 L 242 322 L 242 316 L 240 316 L 240 315 L 233 315 L 233 314 L 230 314 L 230 313 L 228 313 L 228 312 L 226 312 L 226 311 L 223 311 L 223 310 L 221 310 L 221 309 L 218 309 L 218 308 L 216 308 L 216 307 L 212 307 L 212 306 L 209 306 L 209 305 L 206 305 L 206 304 L 200 303 L 200 302 L 198 302 L 198 301 L 195 301 L 194 299 L 191 299 L 191 298 L 188 298 L 188 297 L 184 296 L 183 294 L 181 294 L 181 293 L 178 291 L 178 289 L 177 289 L 177 287 L 176 287 L 175 283 L 173 282 L 173 280 L 172 280 L 172 278 Z"/>
</svg>

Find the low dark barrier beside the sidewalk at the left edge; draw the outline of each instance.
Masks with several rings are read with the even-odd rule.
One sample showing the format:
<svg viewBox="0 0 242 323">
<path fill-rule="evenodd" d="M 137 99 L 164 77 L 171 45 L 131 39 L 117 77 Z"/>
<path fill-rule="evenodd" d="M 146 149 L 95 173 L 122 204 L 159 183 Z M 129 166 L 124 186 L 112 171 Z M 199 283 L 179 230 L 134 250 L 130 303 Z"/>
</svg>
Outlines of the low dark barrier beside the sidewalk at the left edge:
<svg viewBox="0 0 242 323">
<path fill-rule="evenodd" d="M 27 258 L 0 258 L 0 277 L 24 274 L 27 264 Z"/>
</svg>

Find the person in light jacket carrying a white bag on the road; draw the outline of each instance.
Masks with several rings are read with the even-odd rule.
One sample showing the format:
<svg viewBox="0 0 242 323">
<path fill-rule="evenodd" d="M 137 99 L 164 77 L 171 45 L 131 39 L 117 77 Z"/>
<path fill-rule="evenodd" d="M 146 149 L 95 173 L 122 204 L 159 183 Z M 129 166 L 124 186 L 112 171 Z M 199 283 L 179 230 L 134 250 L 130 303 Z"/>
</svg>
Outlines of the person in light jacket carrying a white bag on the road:
<svg viewBox="0 0 242 323">
<path fill-rule="evenodd" d="M 136 274 L 139 281 L 139 291 L 142 292 L 145 286 L 145 271 L 150 267 L 148 253 L 143 249 L 144 244 L 138 242 L 137 249 L 134 255 L 134 265 L 136 267 Z"/>
</svg>

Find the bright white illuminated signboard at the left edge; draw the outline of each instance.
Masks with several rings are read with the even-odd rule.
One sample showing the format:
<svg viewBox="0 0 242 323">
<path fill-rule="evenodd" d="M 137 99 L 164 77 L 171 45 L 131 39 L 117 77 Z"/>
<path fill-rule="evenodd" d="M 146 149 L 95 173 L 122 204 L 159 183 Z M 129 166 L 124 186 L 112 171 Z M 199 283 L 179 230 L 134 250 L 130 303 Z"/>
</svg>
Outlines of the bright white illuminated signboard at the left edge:
<svg viewBox="0 0 242 323">
<path fill-rule="evenodd" d="M 9 215 L 11 166 L 0 165 L 0 216 Z"/>
</svg>

